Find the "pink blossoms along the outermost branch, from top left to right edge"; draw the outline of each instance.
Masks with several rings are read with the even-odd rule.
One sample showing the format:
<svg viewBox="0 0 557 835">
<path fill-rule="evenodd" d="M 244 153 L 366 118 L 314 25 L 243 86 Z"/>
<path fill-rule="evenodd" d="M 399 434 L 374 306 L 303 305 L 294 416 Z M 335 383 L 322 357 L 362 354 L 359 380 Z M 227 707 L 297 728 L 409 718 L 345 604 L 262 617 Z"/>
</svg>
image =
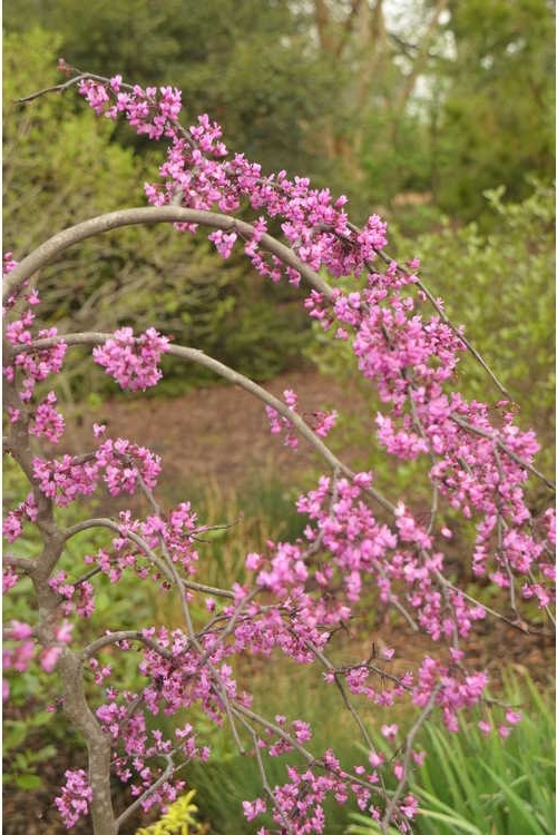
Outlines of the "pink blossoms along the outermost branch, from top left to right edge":
<svg viewBox="0 0 557 835">
<path fill-rule="evenodd" d="M 92 84 L 92 88 L 97 86 Z M 114 85 L 106 85 L 102 96 L 107 105 L 113 95 Z M 152 118 L 157 108 L 160 118 L 172 110 L 166 104 L 172 99 L 168 88 L 157 94 L 154 90 L 143 94 L 134 88 L 133 105 L 126 111 L 128 118 L 141 97 L 145 114 L 148 114 L 146 119 Z M 123 109 L 126 110 L 126 105 Z M 306 178 L 290 180 L 285 171 L 264 177 L 260 166 L 248 163 L 243 155 L 226 158 L 221 128 L 206 116 L 199 117 L 199 124 L 188 131 L 169 116 L 164 132 L 172 140 L 168 160 L 160 169 L 165 185 L 148 188 L 152 203 L 169 203 L 180 194 L 185 206 L 204 209 L 218 206 L 223 212 L 234 212 L 242 199 L 247 198 L 252 208 L 264 209 L 268 217 L 282 218 L 283 234 L 303 262 L 314 271 L 325 267 L 334 276 L 369 271 L 375 253 L 384 247 L 385 225 L 377 215 L 369 218 L 363 229 L 355 230 L 348 223 L 344 197 L 333 203 L 326 189 L 311 189 Z M 261 252 L 258 243 L 266 229 L 265 218 L 261 216 L 256 223 L 256 234 L 246 243 L 245 250 L 256 269 L 277 279 L 285 267 L 276 256 L 268 258 Z M 218 230 L 211 237 L 222 255 L 228 257 L 236 234 Z M 418 268 L 419 262 L 414 259 L 409 267 Z M 392 409 L 391 415 L 378 415 L 381 443 L 397 458 L 434 455 L 438 459 L 431 470 L 437 489 L 468 517 L 472 512 L 483 517 L 475 558 L 477 570 L 491 559 L 496 570 L 490 577 L 502 586 L 505 571 L 500 568 L 514 568 L 511 554 L 505 547 L 495 547 L 491 531 L 497 524 L 508 524 L 509 518 L 516 523 L 517 515 L 524 517 L 522 522 L 529 522 L 518 487 L 526 478 L 526 469 L 517 456 L 529 464 L 537 446 L 532 433 L 520 432 L 510 413 L 505 418 L 506 425 L 499 430 L 488 420 L 487 406 L 467 404 L 460 395 L 443 392 L 442 386 L 453 377 L 465 345 L 439 315 L 424 318 L 417 313 L 421 292 L 418 299 L 402 294 L 416 281 L 416 275 L 391 262 L 383 274 L 368 272 L 368 287 L 362 293 L 345 294 L 335 289 L 333 307 L 326 308 L 323 294 L 312 291 L 306 307 L 323 326 L 335 322 L 342 338 L 349 335 L 346 328 L 355 330 L 353 347 L 360 370 L 377 383 L 380 396 Z M 286 419 L 270 409 L 267 414 L 272 431 L 286 430 L 286 443 L 295 449 L 297 440 Z M 470 444 L 471 433 L 483 434 L 485 442 L 476 438 Z M 468 449 L 470 454 L 466 455 Z M 478 450 L 481 450 L 480 455 Z M 491 472 L 488 474 L 486 469 Z M 494 512 L 495 507 L 499 508 L 497 512 Z M 526 532 L 524 536 L 528 538 Z M 531 537 L 526 550 L 528 556 L 522 563 L 536 562 L 539 546 Z M 555 600 L 545 581 L 522 582 L 522 589 L 526 598 L 537 597 L 540 606 Z"/>
</svg>

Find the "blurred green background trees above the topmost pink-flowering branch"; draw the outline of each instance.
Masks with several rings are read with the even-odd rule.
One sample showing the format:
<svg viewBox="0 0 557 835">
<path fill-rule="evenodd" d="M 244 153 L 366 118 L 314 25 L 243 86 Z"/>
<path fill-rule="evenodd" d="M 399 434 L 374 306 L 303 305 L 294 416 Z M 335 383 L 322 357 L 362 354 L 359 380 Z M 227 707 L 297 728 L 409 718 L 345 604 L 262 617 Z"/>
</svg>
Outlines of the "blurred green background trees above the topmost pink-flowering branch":
<svg viewBox="0 0 557 835">
<path fill-rule="evenodd" d="M 432 26 L 432 0 L 390 6 L 20 0 L 4 27 L 23 40 L 42 27 L 90 71 L 180 87 L 186 119 L 208 112 L 264 169 L 346 193 L 354 219 L 381 208 L 408 230 L 439 210 L 470 220 L 482 189 L 502 183 L 519 200 L 526 174 L 551 176 L 554 3 L 451 0 Z M 145 154 L 144 139 L 115 136 Z M 401 193 L 432 204 L 401 217 Z"/>
</svg>

